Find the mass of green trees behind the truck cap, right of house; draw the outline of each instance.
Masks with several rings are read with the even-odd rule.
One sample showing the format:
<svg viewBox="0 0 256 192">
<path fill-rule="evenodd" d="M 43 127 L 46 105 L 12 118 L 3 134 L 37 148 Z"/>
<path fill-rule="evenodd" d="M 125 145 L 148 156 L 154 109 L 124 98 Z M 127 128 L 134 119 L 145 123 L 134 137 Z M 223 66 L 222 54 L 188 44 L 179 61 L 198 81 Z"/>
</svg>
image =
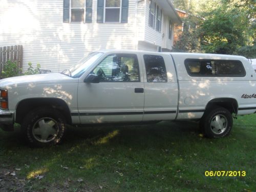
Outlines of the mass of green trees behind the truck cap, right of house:
<svg viewBox="0 0 256 192">
<path fill-rule="evenodd" d="M 174 50 L 252 56 L 255 50 L 255 0 L 173 0 L 175 7 L 199 18 L 184 19 L 184 30 Z"/>
</svg>

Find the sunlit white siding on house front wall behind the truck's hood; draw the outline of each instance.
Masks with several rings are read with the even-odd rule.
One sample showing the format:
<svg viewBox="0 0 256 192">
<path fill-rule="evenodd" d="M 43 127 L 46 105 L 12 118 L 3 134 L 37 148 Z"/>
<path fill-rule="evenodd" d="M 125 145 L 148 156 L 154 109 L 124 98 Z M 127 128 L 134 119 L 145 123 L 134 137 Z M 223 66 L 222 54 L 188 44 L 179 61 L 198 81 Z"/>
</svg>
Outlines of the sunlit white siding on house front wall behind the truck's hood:
<svg viewBox="0 0 256 192">
<path fill-rule="evenodd" d="M 0 0 L 0 5 L 0 47 L 23 45 L 25 70 L 32 62 L 60 72 L 93 50 L 137 47 L 135 0 L 129 1 L 126 24 L 96 23 L 97 0 L 92 23 L 86 24 L 62 22 L 63 0 Z"/>
</svg>

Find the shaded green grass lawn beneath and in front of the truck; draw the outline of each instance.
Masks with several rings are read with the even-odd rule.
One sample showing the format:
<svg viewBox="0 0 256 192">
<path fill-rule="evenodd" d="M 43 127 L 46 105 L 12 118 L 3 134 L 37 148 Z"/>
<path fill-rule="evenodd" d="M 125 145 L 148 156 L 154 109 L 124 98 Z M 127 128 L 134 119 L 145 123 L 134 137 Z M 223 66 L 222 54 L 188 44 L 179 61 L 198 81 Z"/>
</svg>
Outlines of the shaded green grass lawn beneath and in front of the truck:
<svg viewBox="0 0 256 192">
<path fill-rule="evenodd" d="M 30 148 L 18 129 L 1 130 L 0 191 L 256 191 L 255 144 L 256 114 L 221 139 L 202 137 L 197 122 L 160 122 L 73 128 L 61 145 Z"/>
</svg>

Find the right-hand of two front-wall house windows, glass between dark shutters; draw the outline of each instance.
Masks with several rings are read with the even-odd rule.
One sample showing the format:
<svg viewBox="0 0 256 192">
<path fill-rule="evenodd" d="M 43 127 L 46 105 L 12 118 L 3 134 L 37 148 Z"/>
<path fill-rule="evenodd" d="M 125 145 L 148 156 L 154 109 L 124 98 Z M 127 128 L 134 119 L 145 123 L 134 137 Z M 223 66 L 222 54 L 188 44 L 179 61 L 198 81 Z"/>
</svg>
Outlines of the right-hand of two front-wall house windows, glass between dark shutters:
<svg viewBox="0 0 256 192">
<path fill-rule="evenodd" d="M 120 0 L 105 0 L 105 22 L 120 23 Z"/>
</svg>

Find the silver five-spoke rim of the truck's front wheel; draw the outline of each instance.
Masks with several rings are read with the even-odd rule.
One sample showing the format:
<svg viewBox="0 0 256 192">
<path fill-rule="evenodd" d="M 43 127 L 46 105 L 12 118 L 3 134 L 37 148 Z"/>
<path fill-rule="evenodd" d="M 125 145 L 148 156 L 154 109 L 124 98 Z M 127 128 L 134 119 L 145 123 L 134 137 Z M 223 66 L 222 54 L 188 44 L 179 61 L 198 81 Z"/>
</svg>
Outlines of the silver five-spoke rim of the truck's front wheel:
<svg viewBox="0 0 256 192">
<path fill-rule="evenodd" d="M 42 143 L 53 141 L 58 133 L 58 123 L 50 117 L 37 120 L 32 129 L 33 137 Z"/>
</svg>

